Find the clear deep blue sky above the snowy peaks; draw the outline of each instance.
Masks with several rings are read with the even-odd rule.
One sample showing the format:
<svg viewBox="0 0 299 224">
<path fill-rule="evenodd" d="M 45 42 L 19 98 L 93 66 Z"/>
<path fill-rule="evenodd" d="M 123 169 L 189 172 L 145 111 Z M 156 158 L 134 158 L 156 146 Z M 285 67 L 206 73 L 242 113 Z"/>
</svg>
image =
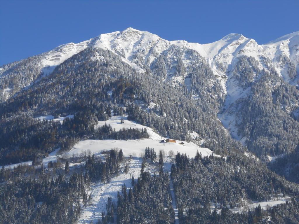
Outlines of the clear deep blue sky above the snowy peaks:
<svg viewBox="0 0 299 224">
<path fill-rule="evenodd" d="M 266 43 L 299 30 L 299 1 L 0 1 L 0 65 L 133 27 L 209 43 L 241 33 Z"/>
</svg>

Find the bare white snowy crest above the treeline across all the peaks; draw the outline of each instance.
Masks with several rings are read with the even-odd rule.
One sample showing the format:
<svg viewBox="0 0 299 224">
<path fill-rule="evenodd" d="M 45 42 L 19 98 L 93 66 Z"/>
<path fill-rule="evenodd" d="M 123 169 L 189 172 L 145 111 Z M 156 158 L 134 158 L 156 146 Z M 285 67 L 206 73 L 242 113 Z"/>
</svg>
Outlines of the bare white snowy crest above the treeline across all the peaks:
<svg viewBox="0 0 299 224">
<path fill-rule="evenodd" d="M 282 36 L 264 45 L 258 45 L 254 39 L 241 34 L 231 33 L 219 41 L 209 44 L 189 43 L 187 41 L 167 41 L 147 31 L 135 30 L 131 27 L 123 31 L 101 34 L 95 38 L 78 44 L 60 45 L 48 52 L 45 66 L 55 66 L 75 53 L 88 48 L 99 47 L 112 50 L 135 64 L 150 65 L 158 55 L 171 45 L 187 47 L 205 57 L 210 65 L 216 61 L 230 65 L 233 58 L 240 55 L 268 56 L 273 62 L 280 53 L 290 57 L 298 68 L 299 63 L 299 31 Z"/>
</svg>

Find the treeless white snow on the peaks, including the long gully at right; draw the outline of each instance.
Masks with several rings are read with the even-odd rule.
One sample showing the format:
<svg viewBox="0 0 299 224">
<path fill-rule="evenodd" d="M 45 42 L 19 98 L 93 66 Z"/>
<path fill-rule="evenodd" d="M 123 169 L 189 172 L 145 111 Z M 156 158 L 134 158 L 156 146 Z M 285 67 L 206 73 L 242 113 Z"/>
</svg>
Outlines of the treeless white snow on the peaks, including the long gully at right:
<svg viewBox="0 0 299 224">
<path fill-rule="evenodd" d="M 214 78 L 207 82 L 217 81 L 214 85 L 219 85 L 221 94 L 225 97 L 225 105 L 219 114 L 225 128 L 236 138 L 241 140 L 244 136 L 238 134 L 235 120 L 240 99 L 250 95 L 249 86 L 243 87 L 234 77 L 234 70 L 239 62 L 239 57 L 247 56 L 256 60 L 255 71 L 252 82 L 259 79 L 260 72 L 269 67 L 274 67 L 275 71 L 285 82 L 291 85 L 298 85 L 299 82 L 299 32 L 282 36 L 264 45 L 259 45 L 254 39 L 249 39 L 241 34 L 231 33 L 219 41 L 209 44 L 189 43 L 182 41 L 167 41 L 159 36 L 127 28 L 123 31 L 101 34 L 95 38 L 78 44 L 69 43 L 56 47 L 46 53 L 46 58 L 42 61 L 44 74 L 51 72 L 55 66 L 59 65 L 72 55 L 88 48 L 99 47 L 111 50 L 120 55 L 123 61 L 132 67 L 144 72 L 150 70 L 159 57 L 166 55 L 164 62 L 167 62 L 164 81 L 174 84 L 186 85 L 190 89 L 188 65 L 194 64 L 194 59 L 187 53 L 193 50 L 202 56 L 211 67 Z M 174 52 L 173 48 L 176 48 Z M 178 51 L 180 53 L 178 53 Z M 176 74 L 178 55 L 181 55 L 182 63 L 186 70 Z M 199 62 L 200 63 L 200 62 Z M 250 65 L 252 66 L 252 65 Z M 279 83 L 272 83 L 277 86 Z M 195 94 L 195 98 L 197 93 Z M 298 102 L 295 102 L 297 105 Z M 296 109 L 292 108 L 292 109 Z M 243 142 L 246 140 L 243 139 Z"/>
</svg>

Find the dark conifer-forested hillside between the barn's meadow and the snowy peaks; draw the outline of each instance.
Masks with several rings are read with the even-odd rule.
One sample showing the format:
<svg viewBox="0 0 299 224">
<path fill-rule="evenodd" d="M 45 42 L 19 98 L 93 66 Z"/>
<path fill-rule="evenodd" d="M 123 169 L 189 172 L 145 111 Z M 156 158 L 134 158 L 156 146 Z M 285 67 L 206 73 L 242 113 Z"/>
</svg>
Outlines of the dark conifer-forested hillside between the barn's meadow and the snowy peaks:
<svg viewBox="0 0 299 224">
<path fill-rule="evenodd" d="M 94 55 L 106 60 L 90 59 Z M 226 133 L 215 112 L 208 110 L 213 102 L 207 102 L 203 110 L 179 88 L 137 73 L 109 51 L 92 48 L 2 104 L 1 159 L 5 164 L 16 163 L 43 157 L 58 147 L 67 149 L 72 139 L 94 136 L 97 120 L 107 119 L 109 110 L 120 104 L 130 119 L 162 136 L 190 140 L 190 133 L 196 132 L 205 139 L 202 146 L 216 153 L 226 154 L 233 148 L 246 151 Z M 144 110 L 150 104 L 155 106 Z M 62 125 L 34 119 L 47 114 L 74 114 L 74 119 L 65 119 Z M 46 137 L 50 133 L 52 138 Z"/>
</svg>

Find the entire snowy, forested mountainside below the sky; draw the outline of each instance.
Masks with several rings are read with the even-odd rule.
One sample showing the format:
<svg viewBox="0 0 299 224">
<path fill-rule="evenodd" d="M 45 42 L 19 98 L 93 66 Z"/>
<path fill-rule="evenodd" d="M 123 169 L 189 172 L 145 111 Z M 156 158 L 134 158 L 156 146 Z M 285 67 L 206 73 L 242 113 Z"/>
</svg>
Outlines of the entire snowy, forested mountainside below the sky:
<svg viewBox="0 0 299 224">
<path fill-rule="evenodd" d="M 298 221 L 298 35 L 128 28 L 4 65 L 0 223 Z"/>
</svg>

